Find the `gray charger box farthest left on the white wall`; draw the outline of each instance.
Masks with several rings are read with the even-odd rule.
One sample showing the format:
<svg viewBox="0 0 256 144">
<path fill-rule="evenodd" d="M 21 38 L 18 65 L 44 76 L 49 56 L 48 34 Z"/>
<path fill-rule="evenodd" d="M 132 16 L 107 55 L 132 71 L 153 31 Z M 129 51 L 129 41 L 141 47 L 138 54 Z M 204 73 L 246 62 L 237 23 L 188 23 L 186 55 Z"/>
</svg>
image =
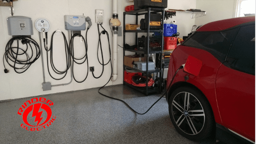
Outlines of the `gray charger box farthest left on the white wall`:
<svg viewBox="0 0 256 144">
<path fill-rule="evenodd" d="M 13 16 L 7 18 L 8 34 L 10 36 L 33 35 L 33 24 L 30 17 Z"/>
</svg>

